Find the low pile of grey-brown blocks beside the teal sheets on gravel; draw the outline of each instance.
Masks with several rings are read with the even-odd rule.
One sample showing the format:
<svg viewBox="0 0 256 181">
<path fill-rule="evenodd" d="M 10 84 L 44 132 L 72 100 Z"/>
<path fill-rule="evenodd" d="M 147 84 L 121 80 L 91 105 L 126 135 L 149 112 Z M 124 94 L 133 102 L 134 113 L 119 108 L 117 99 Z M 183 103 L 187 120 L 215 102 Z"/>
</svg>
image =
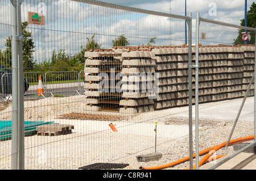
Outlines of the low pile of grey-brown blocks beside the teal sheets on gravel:
<svg viewBox="0 0 256 181">
<path fill-rule="evenodd" d="M 36 127 L 36 132 L 38 136 L 59 136 L 72 133 L 72 129 L 74 126 L 68 124 L 46 124 Z"/>
</svg>

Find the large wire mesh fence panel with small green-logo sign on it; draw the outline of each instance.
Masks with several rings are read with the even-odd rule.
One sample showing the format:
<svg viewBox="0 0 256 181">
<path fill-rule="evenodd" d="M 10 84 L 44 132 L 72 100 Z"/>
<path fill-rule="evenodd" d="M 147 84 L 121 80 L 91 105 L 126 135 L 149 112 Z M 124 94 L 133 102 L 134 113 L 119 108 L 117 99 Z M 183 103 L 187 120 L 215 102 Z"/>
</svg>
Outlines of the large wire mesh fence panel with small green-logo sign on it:
<svg viewBox="0 0 256 181">
<path fill-rule="evenodd" d="M 191 17 L 98 1 L 26 0 L 20 10 L 23 43 L 30 45 L 23 51 L 24 77 L 31 81 L 24 121 L 46 123 L 24 137 L 24 169 L 97 169 L 99 163 L 125 163 L 126 169 L 189 167 L 189 162 L 172 163 L 192 153 Z M 189 46 L 183 45 L 185 21 Z M 2 27 L 11 24 L 0 26 L 3 52 L 10 47 L 2 39 L 11 35 Z M 11 69 L 5 54 L 1 61 Z M 82 81 L 80 73 L 85 73 Z M 50 90 L 53 81 L 64 81 L 64 91 L 85 92 L 40 96 L 64 85 L 57 82 Z M 68 88 L 72 81 L 75 86 Z M 1 120 L 12 120 L 13 102 L 3 103 Z M 11 140 L 1 142 L 1 169 L 11 168 L 11 148 Z"/>
</svg>

